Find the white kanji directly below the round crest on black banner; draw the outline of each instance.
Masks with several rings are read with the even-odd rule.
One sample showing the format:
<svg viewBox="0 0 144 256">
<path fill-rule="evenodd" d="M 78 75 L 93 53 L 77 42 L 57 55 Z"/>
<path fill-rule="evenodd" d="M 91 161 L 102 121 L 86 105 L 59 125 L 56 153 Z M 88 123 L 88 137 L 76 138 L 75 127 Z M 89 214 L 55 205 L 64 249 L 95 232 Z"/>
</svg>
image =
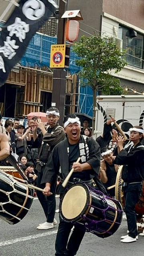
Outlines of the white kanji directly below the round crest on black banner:
<svg viewBox="0 0 144 256">
<path fill-rule="evenodd" d="M 29 24 L 22 21 L 20 18 L 16 17 L 15 22 L 7 26 L 7 30 L 10 31 L 9 36 L 12 37 L 14 34 L 18 37 L 19 41 L 22 43 L 26 38 L 26 33 L 29 32 Z"/>
</svg>

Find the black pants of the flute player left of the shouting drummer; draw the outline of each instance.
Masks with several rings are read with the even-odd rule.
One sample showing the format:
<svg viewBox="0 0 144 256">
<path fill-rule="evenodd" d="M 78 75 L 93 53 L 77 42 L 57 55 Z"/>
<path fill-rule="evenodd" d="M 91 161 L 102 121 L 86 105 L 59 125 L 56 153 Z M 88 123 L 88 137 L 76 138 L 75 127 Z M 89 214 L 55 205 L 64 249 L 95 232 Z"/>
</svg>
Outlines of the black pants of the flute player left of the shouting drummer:
<svg viewBox="0 0 144 256">
<path fill-rule="evenodd" d="M 38 172 L 37 176 L 37 187 L 40 187 L 41 189 L 45 188 L 45 185 L 41 185 L 41 180 L 43 176 L 43 171 L 45 167 L 41 169 L 41 173 Z M 53 195 L 50 195 L 49 197 L 46 197 L 43 195 L 43 192 L 37 191 L 37 197 L 43 207 L 43 210 L 45 212 L 45 216 L 47 218 L 47 222 L 52 223 L 53 219 L 55 217 L 55 209 L 56 209 L 56 200 L 55 200 L 55 185 L 51 187 L 51 192 Z"/>
</svg>

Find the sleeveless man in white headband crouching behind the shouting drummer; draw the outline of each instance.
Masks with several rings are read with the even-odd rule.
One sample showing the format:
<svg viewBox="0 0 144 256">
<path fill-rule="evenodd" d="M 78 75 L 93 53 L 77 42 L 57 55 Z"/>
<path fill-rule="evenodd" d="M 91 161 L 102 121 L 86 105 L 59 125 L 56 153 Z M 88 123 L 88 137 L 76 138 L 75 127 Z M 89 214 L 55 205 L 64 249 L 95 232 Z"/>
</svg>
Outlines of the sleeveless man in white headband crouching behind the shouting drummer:
<svg viewBox="0 0 144 256">
<path fill-rule="evenodd" d="M 99 171 L 99 176 L 104 184 L 105 188 L 110 187 L 116 183 L 116 175 L 118 172 L 118 165 L 114 165 L 113 161 L 116 156 L 113 156 L 111 149 L 105 147 L 101 149 L 101 166 Z M 110 197 L 115 196 L 115 188 L 107 190 L 107 193 Z"/>
</svg>

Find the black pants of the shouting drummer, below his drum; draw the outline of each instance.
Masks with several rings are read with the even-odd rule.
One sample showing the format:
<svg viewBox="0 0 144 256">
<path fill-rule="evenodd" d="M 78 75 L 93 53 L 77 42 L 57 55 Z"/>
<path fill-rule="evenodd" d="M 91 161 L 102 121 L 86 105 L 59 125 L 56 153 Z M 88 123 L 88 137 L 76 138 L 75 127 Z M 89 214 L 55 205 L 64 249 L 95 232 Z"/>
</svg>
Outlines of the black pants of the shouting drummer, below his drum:
<svg viewBox="0 0 144 256">
<path fill-rule="evenodd" d="M 74 256 L 76 255 L 85 231 L 81 230 L 77 226 L 73 229 L 73 232 L 69 238 L 71 229 L 73 228 L 72 223 L 61 221 L 57 232 L 57 238 L 55 242 L 55 256 Z M 69 242 L 68 242 L 69 239 Z"/>
</svg>

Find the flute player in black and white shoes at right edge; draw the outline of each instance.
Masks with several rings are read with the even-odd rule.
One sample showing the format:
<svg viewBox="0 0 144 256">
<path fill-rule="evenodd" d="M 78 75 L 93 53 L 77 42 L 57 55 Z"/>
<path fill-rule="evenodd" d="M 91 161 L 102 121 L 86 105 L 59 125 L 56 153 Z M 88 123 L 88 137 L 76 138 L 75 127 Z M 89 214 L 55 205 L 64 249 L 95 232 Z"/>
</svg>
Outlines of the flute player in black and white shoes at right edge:
<svg viewBox="0 0 144 256">
<path fill-rule="evenodd" d="M 138 239 L 135 205 L 142 192 L 142 180 L 144 179 L 144 146 L 141 141 L 144 138 L 144 130 L 141 126 L 130 128 L 130 139 L 133 145 L 124 150 L 124 138 L 117 138 L 118 156 L 115 164 L 124 165 L 122 171 L 122 189 L 125 198 L 125 212 L 128 223 L 128 235 L 122 236 L 120 242 L 131 243 Z"/>
</svg>

